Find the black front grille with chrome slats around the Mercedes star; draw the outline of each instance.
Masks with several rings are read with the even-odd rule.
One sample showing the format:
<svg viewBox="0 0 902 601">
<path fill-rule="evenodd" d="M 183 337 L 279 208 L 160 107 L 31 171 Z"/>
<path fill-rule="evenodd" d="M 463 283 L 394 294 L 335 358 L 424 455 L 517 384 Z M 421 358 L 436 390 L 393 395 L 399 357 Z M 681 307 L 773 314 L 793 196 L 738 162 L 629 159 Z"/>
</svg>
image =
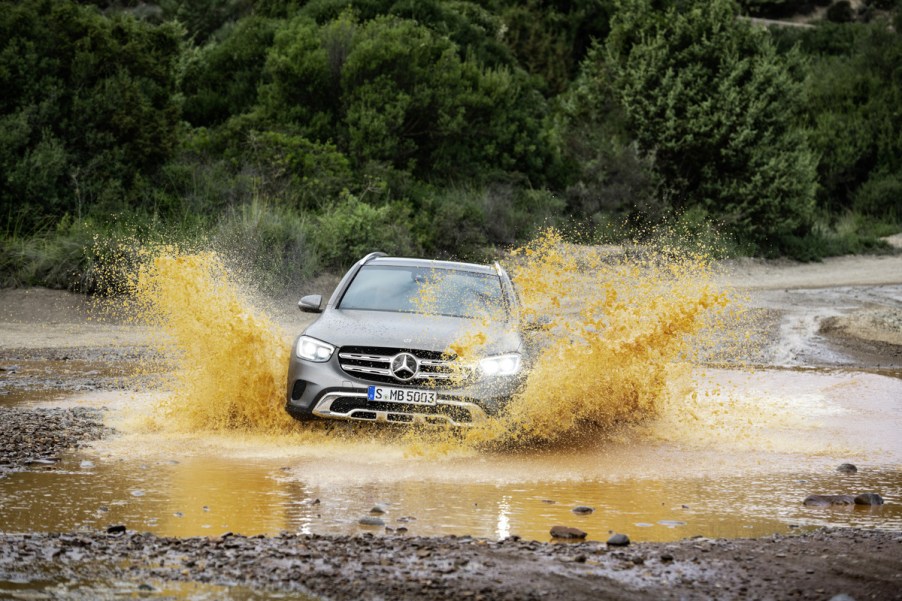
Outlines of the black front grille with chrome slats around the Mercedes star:
<svg viewBox="0 0 902 601">
<path fill-rule="evenodd" d="M 410 380 L 402 381 L 392 375 L 391 361 L 398 353 L 410 353 L 419 362 L 417 374 Z M 346 374 L 380 384 L 443 388 L 460 385 L 466 380 L 466 374 L 455 373 L 454 359 L 436 351 L 391 347 L 343 346 L 338 351 L 338 363 Z"/>
</svg>

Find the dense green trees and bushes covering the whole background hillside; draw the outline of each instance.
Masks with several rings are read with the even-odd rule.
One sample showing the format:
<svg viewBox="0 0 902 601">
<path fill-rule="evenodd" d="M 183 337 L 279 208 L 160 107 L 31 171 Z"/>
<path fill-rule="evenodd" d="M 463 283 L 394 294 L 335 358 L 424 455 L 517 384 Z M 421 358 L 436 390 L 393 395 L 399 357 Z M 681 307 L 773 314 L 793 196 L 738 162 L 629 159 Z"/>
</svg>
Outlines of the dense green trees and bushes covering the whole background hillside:
<svg viewBox="0 0 902 601">
<path fill-rule="evenodd" d="M 93 241 L 127 222 L 203 232 L 271 292 L 377 248 L 482 260 L 542 224 L 881 251 L 900 3 L 737 18 L 830 4 L 0 0 L 0 283 L 91 289 Z"/>
</svg>

